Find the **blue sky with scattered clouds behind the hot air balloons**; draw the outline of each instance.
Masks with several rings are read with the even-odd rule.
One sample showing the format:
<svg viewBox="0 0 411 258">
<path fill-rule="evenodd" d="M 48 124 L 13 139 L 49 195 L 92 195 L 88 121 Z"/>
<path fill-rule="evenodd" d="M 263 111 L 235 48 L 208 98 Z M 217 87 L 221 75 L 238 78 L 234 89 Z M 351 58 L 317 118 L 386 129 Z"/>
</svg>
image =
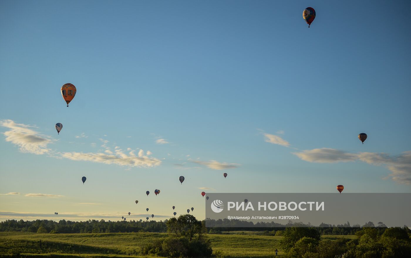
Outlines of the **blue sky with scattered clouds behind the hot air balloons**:
<svg viewBox="0 0 411 258">
<path fill-rule="evenodd" d="M 1 1 L 0 219 L 203 218 L 202 187 L 411 192 L 410 5 Z"/>
</svg>

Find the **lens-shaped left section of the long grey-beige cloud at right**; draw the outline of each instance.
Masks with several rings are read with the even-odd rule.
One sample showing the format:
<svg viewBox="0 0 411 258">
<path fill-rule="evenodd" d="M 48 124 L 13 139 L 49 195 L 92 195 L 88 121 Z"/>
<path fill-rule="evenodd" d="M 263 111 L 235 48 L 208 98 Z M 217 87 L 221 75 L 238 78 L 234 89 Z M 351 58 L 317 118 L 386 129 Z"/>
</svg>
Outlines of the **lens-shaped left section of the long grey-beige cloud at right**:
<svg viewBox="0 0 411 258">
<path fill-rule="evenodd" d="M 295 152 L 298 158 L 315 163 L 335 163 L 335 162 L 349 162 L 354 161 L 358 157 L 356 154 L 347 153 L 332 148 L 319 148 L 312 150 L 305 150 L 302 152 Z"/>
</svg>

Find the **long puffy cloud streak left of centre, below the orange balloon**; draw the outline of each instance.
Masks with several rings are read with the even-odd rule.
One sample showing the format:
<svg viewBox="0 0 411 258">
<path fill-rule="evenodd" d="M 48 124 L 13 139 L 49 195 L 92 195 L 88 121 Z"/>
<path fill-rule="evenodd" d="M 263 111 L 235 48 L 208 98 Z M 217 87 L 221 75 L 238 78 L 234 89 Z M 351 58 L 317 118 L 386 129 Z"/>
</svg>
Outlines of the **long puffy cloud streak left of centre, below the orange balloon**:
<svg viewBox="0 0 411 258">
<path fill-rule="evenodd" d="M 157 158 L 150 158 L 144 155 L 141 155 L 139 157 L 136 157 L 134 155 L 127 155 L 123 153 L 120 149 L 115 150 L 114 155 L 107 155 L 104 153 L 66 152 L 62 153 L 61 156 L 63 158 L 67 158 L 70 160 L 91 161 L 104 164 L 117 164 L 120 166 L 130 167 L 155 167 L 161 164 L 161 160 L 158 160 Z"/>
</svg>

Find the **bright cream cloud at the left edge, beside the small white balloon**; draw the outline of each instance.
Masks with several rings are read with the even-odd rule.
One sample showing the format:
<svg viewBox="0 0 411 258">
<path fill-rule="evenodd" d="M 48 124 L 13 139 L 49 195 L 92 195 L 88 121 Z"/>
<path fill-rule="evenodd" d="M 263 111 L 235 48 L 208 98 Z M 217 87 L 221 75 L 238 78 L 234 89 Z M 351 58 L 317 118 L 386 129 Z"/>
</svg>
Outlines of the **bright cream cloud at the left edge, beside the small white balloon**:
<svg viewBox="0 0 411 258">
<path fill-rule="evenodd" d="M 29 128 L 32 126 L 15 123 L 10 119 L 1 120 L 0 126 L 10 129 L 3 132 L 6 136 L 6 142 L 12 142 L 12 144 L 19 146 L 21 152 L 41 155 L 50 151 L 47 145 L 52 142 L 51 139 Z"/>
</svg>

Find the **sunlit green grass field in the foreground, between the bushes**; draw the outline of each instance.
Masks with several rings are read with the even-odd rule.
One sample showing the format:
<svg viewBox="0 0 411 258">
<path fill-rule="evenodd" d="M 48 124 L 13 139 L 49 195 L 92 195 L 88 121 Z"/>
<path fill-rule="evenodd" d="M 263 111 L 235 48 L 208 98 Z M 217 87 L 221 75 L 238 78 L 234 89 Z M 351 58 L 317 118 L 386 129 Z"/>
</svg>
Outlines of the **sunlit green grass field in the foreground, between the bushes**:
<svg viewBox="0 0 411 258">
<path fill-rule="evenodd" d="M 23 257 L 150 257 L 141 256 L 145 244 L 156 238 L 166 237 L 166 233 L 104 233 L 104 234 L 39 234 L 21 232 L 0 232 L 0 257 L 25 254 Z M 274 257 L 279 248 L 279 236 L 263 236 L 254 233 L 246 235 L 208 235 L 213 251 L 222 251 L 224 257 Z M 323 238 L 335 240 L 327 235 Z M 41 241 L 40 241 L 41 240 Z"/>
</svg>

